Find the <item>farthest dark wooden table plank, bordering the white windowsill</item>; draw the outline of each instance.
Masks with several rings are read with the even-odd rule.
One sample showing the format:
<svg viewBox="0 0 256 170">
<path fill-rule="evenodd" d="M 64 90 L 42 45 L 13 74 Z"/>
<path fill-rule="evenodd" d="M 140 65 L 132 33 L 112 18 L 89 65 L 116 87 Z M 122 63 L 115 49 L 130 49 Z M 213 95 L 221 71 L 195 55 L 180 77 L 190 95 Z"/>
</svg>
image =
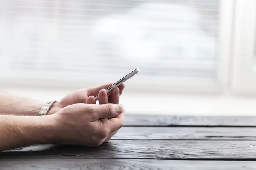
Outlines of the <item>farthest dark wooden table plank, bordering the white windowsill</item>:
<svg viewBox="0 0 256 170">
<path fill-rule="evenodd" d="M 167 116 L 126 115 L 124 126 L 248 126 L 256 127 L 256 116 Z"/>
</svg>

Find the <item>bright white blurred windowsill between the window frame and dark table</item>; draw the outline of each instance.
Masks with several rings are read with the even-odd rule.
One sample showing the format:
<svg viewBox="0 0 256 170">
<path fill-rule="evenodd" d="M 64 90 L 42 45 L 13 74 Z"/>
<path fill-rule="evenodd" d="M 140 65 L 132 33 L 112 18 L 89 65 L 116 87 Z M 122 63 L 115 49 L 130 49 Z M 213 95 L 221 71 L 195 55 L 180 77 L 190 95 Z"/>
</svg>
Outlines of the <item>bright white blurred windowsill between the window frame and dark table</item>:
<svg viewBox="0 0 256 170">
<path fill-rule="evenodd" d="M 15 96 L 38 99 L 61 99 L 71 90 L 47 90 L 27 88 L 6 88 L 6 92 Z M 181 94 L 138 94 L 125 92 L 120 103 L 125 105 L 128 114 L 164 114 L 164 115 L 204 115 L 204 116 L 254 116 L 256 99 L 217 95 L 181 95 Z"/>
</svg>

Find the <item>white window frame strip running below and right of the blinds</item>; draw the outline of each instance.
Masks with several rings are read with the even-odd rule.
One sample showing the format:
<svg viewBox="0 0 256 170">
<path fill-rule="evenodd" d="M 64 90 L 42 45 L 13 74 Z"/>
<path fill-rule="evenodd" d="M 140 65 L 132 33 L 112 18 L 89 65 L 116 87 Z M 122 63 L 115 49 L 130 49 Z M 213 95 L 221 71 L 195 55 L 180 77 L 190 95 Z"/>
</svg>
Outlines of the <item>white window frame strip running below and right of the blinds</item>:
<svg viewBox="0 0 256 170">
<path fill-rule="evenodd" d="M 212 81 L 204 78 L 198 79 L 157 79 L 155 81 L 143 82 L 136 77 L 133 81 L 127 82 L 131 91 L 148 91 L 152 89 L 158 89 L 157 91 L 165 93 L 166 91 L 177 91 L 177 92 L 202 92 L 202 93 L 217 93 L 220 94 L 228 88 L 229 79 L 229 62 L 230 62 L 230 49 L 231 49 L 231 36 L 232 36 L 232 19 L 233 19 L 233 0 L 220 0 L 220 28 L 219 28 L 219 42 L 220 52 L 218 56 L 218 73 L 217 80 Z M 117 71 L 118 73 L 118 71 Z M 103 74 L 102 74 L 103 75 Z M 120 75 L 122 76 L 122 75 Z M 0 86 L 31 86 L 37 88 L 82 88 L 83 85 L 91 86 L 99 84 L 99 82 L 114 81 L 115 79 L 99 79 L 95 82 L 95 77 L 81 77 L 81 79 L 64 80 L 64 79 L 51 79 L 51 77 L 3 77 L 0 79 Z M 200 82 L 205 82 L 201 84 Z M 48 86 L 48 87 L 47 87 Z"/>
</svg>

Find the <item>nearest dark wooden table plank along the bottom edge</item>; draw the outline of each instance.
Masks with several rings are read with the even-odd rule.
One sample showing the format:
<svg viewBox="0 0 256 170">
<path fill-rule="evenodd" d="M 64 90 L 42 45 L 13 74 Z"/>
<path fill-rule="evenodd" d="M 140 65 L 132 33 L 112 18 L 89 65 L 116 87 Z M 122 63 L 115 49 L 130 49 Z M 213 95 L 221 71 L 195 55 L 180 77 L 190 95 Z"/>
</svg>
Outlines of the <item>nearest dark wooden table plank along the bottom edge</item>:
<svg viewBox="0 0 256 170">
<path fill-rule="evenodd" d="M 255 161 L 154 159 L 0 159 L 1 170 L 255 170 Z"/>
</svg>

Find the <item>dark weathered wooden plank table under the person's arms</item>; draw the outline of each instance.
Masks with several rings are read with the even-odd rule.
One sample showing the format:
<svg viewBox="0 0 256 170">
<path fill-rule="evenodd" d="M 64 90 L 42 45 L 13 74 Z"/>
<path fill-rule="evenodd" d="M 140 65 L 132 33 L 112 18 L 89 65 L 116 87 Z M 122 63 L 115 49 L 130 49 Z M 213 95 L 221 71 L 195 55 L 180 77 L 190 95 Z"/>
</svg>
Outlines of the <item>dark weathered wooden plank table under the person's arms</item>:
<svg viewBox="0 0 256 170">
<path fill-rule="evenodd" d="M 255 170 L 256 117 L 127 115 L 99 147 L 35 145 L 0 153 L 0 170 Z"/>
</svg>

